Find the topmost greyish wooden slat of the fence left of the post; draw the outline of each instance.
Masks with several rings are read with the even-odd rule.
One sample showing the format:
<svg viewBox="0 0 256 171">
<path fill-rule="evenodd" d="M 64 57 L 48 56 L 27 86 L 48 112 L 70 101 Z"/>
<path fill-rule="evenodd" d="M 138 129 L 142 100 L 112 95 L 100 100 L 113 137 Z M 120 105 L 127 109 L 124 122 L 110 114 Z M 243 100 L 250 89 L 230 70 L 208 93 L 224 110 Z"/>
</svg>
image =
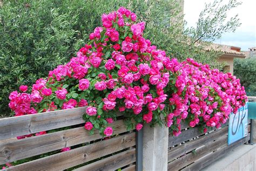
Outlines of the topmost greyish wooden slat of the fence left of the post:
<svg viewBox="0 0 256 171">
<path fill-rule="evenodd" d="M 0 140 L 84 123 L 86 107 L 0 119 Z"/>
</svg>

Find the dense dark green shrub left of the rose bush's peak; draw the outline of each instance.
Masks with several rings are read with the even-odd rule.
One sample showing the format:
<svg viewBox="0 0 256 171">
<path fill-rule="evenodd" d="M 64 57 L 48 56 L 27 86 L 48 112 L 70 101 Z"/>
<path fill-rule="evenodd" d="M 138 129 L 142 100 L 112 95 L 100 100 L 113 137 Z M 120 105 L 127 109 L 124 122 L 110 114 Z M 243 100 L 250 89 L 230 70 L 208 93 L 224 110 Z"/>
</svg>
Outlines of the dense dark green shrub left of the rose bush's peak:
<svg viewBox="0 0 256 171">
<path fill-rule="evenodd" d="M 86 3 L 85 3 L 86 2 Z M 92 2 L 92 1 L 91 1 Z M 0 10 L 0 115 L 8 96 L 65 63 L 100 23 L 99 1 L 3 1 Z M 103 10 L 103 7 L 99 11 Z"/>
</svg>

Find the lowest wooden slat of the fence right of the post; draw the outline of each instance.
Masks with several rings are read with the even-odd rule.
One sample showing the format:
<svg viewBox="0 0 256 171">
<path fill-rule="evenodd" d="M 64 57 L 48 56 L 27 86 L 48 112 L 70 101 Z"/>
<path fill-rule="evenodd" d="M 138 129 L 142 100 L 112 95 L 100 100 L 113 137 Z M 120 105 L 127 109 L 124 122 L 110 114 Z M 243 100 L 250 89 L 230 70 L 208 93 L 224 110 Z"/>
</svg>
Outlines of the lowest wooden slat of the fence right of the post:
<svg viewBox="0 0 256 171">
<path fill-rule="evenodd" d="M 199 160 L 197 160 L 196 162 L 192 163 L 191 165 L 185 167 L 182 170 L 201 170 L 204 167 L 211 165 L 211 163 L 213 163 L 214 161 L 220 159 L 221 157 L 223 157 L 225 154 L 227 154 L 227 152 L 232 151 L 234 148 L 237 148 L 238 146 L 244 144 L 245 142 L 250 140 L 250 136 L 246 136 L 245 138 L 242 138 L 234 143 L 232 143 L 231 145 L 226 145 L 222 148 L 217 149 L 217 151 L 206 155 L 204 158 L 201 158 Z"/>
</svg>

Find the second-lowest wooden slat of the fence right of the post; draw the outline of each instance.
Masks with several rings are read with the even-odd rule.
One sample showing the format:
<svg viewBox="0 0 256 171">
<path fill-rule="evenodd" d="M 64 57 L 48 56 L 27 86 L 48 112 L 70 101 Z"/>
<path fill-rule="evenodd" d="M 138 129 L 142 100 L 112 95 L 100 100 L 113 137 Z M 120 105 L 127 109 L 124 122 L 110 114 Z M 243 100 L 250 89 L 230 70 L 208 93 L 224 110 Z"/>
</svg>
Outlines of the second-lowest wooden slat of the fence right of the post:
<svg viewBox="0 0 256 171">
<path fill-rule="evenodd" d="M 184 156 L 181 156 L 177 160 L 174 160 L 168 164 L 168 170 L 179 170 L 190 163 L 200 159 L 206 154 L 213 152 L 214 150 L 218 149 L 221 146 L 226 145 L 227 143 L 227 136 L 221 136 L 213 143 L 208 143 L 205 146 L 198 148 L 194 151 L 194 153 L 188 153 Z"/>
</svg>

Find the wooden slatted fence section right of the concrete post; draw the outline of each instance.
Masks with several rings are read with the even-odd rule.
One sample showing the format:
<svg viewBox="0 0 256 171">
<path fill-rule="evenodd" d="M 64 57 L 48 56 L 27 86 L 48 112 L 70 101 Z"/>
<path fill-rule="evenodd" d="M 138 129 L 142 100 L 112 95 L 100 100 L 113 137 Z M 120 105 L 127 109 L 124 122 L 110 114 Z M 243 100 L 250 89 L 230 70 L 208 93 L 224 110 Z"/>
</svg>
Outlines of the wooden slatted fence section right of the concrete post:
<svg viewBox="0 0 256 171">
<path fill-rule="evenodd" d="M 248 121 L 250 123 L 250 121 Z M 227 145 L 228 124 L 210 132 L 182 125 L 181 134 L 169 136 L 168 170 L 200 170 L 211 165 L 235 147 L 250 140 L 250 133 L 231 145 Z M 250 125 L 248 125 L 250 132 Z"/>
</svg>

